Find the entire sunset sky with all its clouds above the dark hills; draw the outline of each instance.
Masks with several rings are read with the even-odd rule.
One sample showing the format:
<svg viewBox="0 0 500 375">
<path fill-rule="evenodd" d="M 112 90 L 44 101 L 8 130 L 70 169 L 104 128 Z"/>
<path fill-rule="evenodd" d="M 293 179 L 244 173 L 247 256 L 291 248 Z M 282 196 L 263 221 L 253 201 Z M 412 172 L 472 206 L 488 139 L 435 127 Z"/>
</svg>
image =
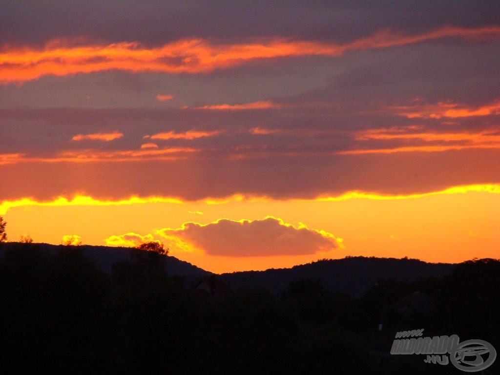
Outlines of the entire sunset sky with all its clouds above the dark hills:
<svg viewBox="0 0 500 375">
<path fill-rule="evenodd" d="M 498 1 L 2 1 L 10 241 L 214 272 L 498 258 Z"/>
</svg>

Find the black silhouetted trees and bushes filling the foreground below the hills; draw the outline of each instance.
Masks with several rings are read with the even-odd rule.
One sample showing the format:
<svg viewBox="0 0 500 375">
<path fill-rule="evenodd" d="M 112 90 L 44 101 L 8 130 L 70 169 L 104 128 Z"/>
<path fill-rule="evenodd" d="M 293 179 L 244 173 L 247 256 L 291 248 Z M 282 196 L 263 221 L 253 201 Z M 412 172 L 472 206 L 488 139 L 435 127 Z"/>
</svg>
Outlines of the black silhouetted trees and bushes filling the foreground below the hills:
<svg viewBox="0 0 500 375">
<path fill-rule="evenodd" d="M 132 249 L 105 272 L 79 246 L 4 249 L 0 373 L 461 373 L 389 354 L 396 331 L 418 328 L 500 350 L 498 260 L 467 261 L 440 278 L 380 280 L 360 298 L 314 279 L 291 281 L 280 295 L 231 289 L 215 275 L 186 282 L 164 260 Z"/>
</svg>

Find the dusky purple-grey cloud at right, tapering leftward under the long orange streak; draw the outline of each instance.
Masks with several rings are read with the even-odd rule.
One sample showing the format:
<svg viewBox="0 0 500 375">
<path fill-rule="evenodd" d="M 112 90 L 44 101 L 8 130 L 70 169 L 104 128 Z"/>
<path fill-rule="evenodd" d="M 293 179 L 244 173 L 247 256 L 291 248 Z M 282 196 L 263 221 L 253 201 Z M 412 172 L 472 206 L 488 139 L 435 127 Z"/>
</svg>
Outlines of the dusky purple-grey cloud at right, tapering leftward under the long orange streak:
<svg viewBox="0 0 500 375">
<path fill-rule="evenodd" d="M 410 45 L 359 52 L 349 60 L 356 63 L 333 76 L 325 86 L 284 97 L 283 101 L 350 102 L 361 109 L 373 102 L 405 103 L 416 97 L 428 102 L 470 104 L 498 97 L 498 42 Z"/>
</svg>

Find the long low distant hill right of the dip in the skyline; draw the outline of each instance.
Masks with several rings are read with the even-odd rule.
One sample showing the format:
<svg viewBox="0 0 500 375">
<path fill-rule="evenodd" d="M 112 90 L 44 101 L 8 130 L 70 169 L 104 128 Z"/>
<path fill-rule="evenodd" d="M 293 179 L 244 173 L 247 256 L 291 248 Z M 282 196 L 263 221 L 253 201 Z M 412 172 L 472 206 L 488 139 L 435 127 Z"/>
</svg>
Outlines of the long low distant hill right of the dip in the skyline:
<svg viewBox="0 0 500 375">
<path fill-rule="evenodd" d="M 360 297 L 378 280 L 416 281 L 425 277 L 443 277 L 454 267 L 455 264 L 427 263 L 418 259 L 353 256 L 324 259 L 291 268 L 223 273 L 221 277 L 233 288 L 261 287 L 273 294 L 285 290 L 293 280 L 312 278 L 321 281 L 326 290 Z"/>
</svg>

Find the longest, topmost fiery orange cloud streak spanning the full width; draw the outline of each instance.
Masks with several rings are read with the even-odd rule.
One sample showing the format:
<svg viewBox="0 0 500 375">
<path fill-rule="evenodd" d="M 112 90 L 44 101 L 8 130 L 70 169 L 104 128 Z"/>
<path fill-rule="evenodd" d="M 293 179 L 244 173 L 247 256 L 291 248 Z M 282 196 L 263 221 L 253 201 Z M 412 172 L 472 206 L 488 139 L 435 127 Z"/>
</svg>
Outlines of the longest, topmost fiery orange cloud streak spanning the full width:
<svg viewBox="0 0 500 375">
<path fill-rule="evenodd" d="M 5 48 L 0 53 L 0 82 L 25 82 L 43 75 L 64 76 L 119 69 L 165 73 L 206 73 L 256 58 L 303 55 L 338 56 L 351 50 L 387 48 L 441 38 L 489 41 L 500 38 L 500 26 L 461 28 L 445 26 L 404 35 L 382 30 L 346 44 L 260 38 L 250 43 L 220 44 L 206 39 L 184 39 L 161 47 L 145 48 L 136 42 L 66 46 L 52 41 L 43 49 Z"/>
</svg>

